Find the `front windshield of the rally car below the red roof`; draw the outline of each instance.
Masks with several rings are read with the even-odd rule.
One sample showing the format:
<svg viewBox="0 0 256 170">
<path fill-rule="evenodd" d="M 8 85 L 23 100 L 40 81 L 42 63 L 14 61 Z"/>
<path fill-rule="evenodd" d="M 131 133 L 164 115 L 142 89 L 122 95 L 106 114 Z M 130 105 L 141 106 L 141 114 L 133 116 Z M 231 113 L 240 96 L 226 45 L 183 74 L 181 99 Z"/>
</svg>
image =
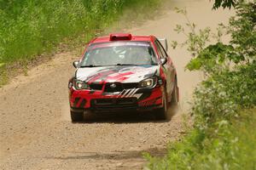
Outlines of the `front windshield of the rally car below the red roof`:
<svg viewBox="0 0 256 170">
<path fill-rule="evenodd" d="M 157 64 L 149 42 L 103 42 L 87 48 L 80 66 Z"/>
</svg>

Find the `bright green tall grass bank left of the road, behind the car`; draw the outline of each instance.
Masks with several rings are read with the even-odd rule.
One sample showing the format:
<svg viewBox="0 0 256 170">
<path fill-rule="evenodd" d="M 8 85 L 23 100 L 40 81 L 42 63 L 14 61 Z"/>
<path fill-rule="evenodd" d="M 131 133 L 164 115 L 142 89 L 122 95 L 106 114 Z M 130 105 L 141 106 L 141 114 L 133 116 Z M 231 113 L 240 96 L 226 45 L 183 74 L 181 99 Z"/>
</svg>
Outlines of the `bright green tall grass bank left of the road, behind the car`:
<svg viewBox="0 0 256 170">
<path fill-rule="evenodd" d="M 24 0 L 0 2 L 0 87 L 13 68 L 88 42 L 110 26 L 154 17 L 160 0 Z M 124 12 L 125 11 L 125 12 Z M 119 24 L 119 21 L 121 21 Z M 124 24 L 125 23 L 125 24 Z"/>
</svg>

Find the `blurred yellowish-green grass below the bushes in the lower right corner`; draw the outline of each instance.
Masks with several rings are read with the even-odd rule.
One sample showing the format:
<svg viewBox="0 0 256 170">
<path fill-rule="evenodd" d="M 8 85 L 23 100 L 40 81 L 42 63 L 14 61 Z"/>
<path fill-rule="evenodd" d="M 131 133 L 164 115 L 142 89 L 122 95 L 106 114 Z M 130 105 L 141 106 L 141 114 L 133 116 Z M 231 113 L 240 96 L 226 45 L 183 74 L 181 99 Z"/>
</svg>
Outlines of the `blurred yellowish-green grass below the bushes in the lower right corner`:
<svg viewBox="0 0 256 170">
<path fill-rule="evenodd" d="M 164 158 L 145 154 L 149 169 L 256 169 L 256 109 L 221 122 L 207 133 L 191 130 L 168 144 Z"/>
</svg>

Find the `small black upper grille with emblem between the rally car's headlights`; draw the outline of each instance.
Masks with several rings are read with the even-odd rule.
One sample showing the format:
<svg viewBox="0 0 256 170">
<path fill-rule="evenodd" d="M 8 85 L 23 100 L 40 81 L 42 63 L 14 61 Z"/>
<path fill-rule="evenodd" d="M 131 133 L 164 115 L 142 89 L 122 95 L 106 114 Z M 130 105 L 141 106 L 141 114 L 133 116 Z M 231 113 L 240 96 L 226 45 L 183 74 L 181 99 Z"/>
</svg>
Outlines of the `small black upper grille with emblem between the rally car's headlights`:
<svg viewBox="0 0 256 170">
<path fill-rule="evenodd" d="M 114 84 L 114 86 L 112 86 Z M 106 93 L 121 92 L 124 89 L 137 88 L 137 83 L 107 83 L 104 89 Z"/>
</svg>

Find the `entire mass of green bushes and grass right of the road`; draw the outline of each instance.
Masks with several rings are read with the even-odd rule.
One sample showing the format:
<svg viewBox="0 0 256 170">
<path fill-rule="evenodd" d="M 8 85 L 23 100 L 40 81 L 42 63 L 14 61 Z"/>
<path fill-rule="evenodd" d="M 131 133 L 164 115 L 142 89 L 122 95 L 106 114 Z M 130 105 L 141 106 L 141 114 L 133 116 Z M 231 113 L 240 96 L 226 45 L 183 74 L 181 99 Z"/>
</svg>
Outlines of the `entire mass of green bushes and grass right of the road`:
<svg viewBox="0 0 256 170">
<path fill-rule="evenodd" d="M 182 142 L 169 144 L 165 157 L 145 154 L 150 169 L 256 169 L 256 1 L 253 2 L 236 4 L 236 16 L 230 19 L 230 26 L 218 28 L 215 44 L 207 45 L 210 32 L 196 31 L 189 20 L 189 33 L 177 26 L 176 31 L 187 36 L 181 44 L 193 56 L 187 68 L 203 71 L 207 77 L 194 92 L 194 128 Z M 183 10 L 177 12 L 187 14 Z M 220 41 L 223 30 L 231 36 L 229 44 Z"/>
</svg>

